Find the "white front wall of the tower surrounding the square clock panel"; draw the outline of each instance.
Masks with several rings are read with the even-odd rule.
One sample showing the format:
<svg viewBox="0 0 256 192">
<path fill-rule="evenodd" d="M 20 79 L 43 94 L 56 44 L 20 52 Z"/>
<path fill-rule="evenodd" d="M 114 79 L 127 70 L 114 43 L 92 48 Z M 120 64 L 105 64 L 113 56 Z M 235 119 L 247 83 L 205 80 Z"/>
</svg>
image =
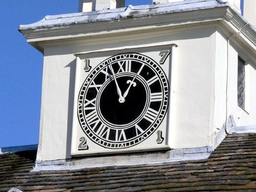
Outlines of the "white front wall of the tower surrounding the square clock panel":
<svg viewBox="0 0 256 192">
<path fill-rule="evenodd" d="M 200 31 L 200 35 L 199 35 Z M 215 61 L 215 27 L 198 26 L 166 30 L 143 36 L 135 33 L 91 38 L 45 45 L 40 142 L 37 160 L 49 161 L 71 158 L 71 134 L 74 99 L 74 54 L 176 44 L 174 79 L 170 82 L 172 117 L 168 134 L 172 148 L 203 147 L 208 145 L 212 129 Z M 119 38 L 120 37 L 120 38 Z M 193 37 L 193 38 L 191 38 Z M 133 40 L 131 40 L 131 38 Z M 65 45 L 65 46 L 63 46 Z M 193 50 L 193 51 L 191 51 Z M 193 62 L 191 62 L 193 60 Z"/>
</svg>

